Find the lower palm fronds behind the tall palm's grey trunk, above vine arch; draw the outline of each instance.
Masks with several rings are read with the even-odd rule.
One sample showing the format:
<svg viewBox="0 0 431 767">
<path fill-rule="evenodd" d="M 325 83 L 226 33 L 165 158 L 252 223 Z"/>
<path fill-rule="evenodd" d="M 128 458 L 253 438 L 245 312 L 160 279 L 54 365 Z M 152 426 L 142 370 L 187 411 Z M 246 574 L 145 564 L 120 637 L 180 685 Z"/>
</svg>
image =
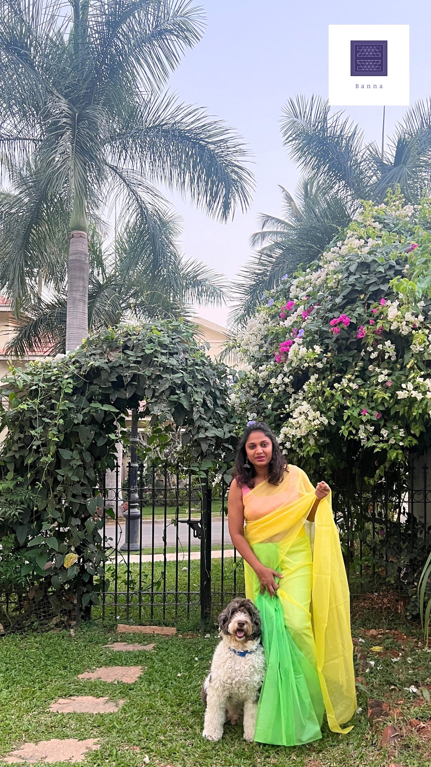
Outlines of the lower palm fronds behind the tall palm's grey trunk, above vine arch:
<svg viewBox="0 0 431 767">
<path fill-rule="evenodd" d="M 0 211 L 2 210 L 0 199 Z M 162 230 L 162 222 L 161 232 Z M 172 242 L 178 237 L 175 216 L 164 222 L 166 242 L 158 260 L 148 232 L 126 222 L 116 232 L 114 241 L 103 249 L 102 234 L 94 226 L 89 230 L 90 282 L 88 290 L 88 328 L 96 331 L 113 327 L 121 321 L 149 321 L 153 318 L 182 317 L 192 319 L 191 304 L 224 303 L 225 286 L 220 275 L 195 261 L 184 261 Z M 51 230 L 53 242 L 61 232 Z M 146 237 L 146 239 L 145 239 Z M 49 298 L 31 297 L 22 306 L 15 321 L 15 336 L 7 351 L 15 357 L 41 350 L 64 352 L 67 328 L 67 254 L 57 259 L 55 279 L 45 290 Z"/>
</svg>

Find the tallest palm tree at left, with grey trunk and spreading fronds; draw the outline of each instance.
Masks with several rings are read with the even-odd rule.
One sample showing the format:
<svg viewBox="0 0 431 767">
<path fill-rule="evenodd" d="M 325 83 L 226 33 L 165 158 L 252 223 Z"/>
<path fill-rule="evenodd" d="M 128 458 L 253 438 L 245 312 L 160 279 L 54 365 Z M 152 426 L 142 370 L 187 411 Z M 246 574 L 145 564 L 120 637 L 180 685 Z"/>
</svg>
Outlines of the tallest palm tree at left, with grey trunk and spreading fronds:
<svg viewBox="0 0 431 767">
<path fill-rule="evenodd" d="M 226 221 L 247 209 L 252 176 L 224 123 L 165 92 L 201 38 L 200 8 L 188 0 L 73 0 L 69 10 L 60 0 L 2 0 L 0 8 L 0 149 L 6 194 L 18 189 L 14 219 L 2 219 L 0 285 L 22 313 L 45 278 L 56 280 L 67 249 L 72 349 L 88 331 L 89 222 L 98 225 L 115 200 L 162 262 L 165 201 L 155 183 Z M 59 221 L 63 235 L 51 244 Z"/>
</svg>

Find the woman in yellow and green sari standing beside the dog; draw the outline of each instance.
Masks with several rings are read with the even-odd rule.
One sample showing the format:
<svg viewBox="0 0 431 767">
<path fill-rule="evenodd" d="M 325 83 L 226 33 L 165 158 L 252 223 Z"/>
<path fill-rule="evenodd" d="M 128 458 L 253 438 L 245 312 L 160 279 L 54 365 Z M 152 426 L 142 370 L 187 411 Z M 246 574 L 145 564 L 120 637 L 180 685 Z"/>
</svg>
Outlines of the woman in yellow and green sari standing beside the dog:
<svg viewBox="0 0 431 767">
<path fill-rule="evenodd" d="M 340 725 L 356 709 L 350 604 L 331 491 L 286 466 L 257 421 L 240 439 L 234 475 L 230 538 L 260 611 L 267 664 L 254 739 L 297 746 L 322 738 L 325 709 L 333 732 L 349 732 Z"/>
</svg>

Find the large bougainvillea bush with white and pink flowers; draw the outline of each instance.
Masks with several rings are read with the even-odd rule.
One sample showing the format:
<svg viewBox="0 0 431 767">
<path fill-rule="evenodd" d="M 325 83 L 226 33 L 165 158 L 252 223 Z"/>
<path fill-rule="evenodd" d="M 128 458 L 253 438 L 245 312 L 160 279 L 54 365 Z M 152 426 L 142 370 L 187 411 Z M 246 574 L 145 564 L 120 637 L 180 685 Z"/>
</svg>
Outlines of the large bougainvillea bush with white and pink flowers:
<svg viewBox="0 0 431 767">
<path fill-rule="evenodd" d="M 373 478 L 426 444 L 431 301 L 417 275 L 431 265 L 430 232 L 429 199 L 364 203 L 318 262 L 263 296 L 233 341 L 247 359 L 234 406 L 266 420 L 291 463 L 333 470 L 361 459 Z"/>
</svg>

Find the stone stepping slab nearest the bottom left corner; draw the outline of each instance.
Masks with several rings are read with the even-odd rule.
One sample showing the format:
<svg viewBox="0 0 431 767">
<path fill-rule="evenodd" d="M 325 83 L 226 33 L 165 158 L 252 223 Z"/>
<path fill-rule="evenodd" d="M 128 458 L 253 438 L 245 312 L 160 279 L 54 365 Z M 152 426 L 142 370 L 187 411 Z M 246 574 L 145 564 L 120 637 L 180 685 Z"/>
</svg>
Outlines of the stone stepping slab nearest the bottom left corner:
<svg viewBox="0 0 431 767">
<path fill-rule="evenodd" d="M 25 762 L 41 762 L 42 764 L 54 764 L 54 762 L 82 762 L 87 752 L 100 749 L 100 743 L 89 738 L 77 740 L 68 738 L 60 740 L 42 740 L 40 743 L 24 743 L 20 749 L 11 751 L 2 757 L 5 764 L 24 764 Z"/>
</svg>

